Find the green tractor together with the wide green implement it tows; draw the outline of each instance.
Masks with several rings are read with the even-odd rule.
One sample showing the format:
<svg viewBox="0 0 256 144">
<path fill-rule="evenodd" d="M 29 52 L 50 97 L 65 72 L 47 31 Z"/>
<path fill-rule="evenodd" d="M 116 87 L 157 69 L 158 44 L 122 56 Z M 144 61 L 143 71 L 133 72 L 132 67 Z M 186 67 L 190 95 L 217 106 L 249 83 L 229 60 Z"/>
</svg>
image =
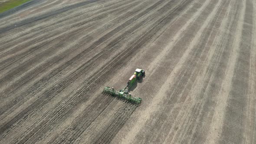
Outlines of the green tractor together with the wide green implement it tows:
<svg viewBox="0 0 256 144">
<path fill-rule="evenodd" d="M 145 71 L 143 69 L 136 69 L 134 75 L 131 76 L 131 78 L 127 82 L 127 85 L 124 89 L 121 89 L 120 91 L 116 91 L 114 88 L 104 87 L 103 93 L 106 93 L 118 98 L 123 98 L 135 104 L 140 104 L 141 98 L 132 97 L 128 91 L 129 91 L 129 88 L 131 88 L 131 86 L 135 84 L 136 80 L 141 79 L 142 76 L 144 75 L 145 75 Z"/>
</svg>

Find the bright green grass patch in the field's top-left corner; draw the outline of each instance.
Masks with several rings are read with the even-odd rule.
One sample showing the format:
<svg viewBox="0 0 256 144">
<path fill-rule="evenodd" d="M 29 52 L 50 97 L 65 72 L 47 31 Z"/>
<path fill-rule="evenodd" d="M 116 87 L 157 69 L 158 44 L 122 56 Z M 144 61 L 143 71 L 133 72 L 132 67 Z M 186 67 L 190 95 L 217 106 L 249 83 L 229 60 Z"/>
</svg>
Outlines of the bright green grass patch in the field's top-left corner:
<svg viewBox="0 0 256 144">
<path fill-rule="evenodd" d="M 22 3 L 26 3 L 27 1 L 30 1 L 30 0 L 7 0 L 3 3 L 0 3 L 0 13 L 10 10 L 13 7 L 17 7 Z"/>
</svg>

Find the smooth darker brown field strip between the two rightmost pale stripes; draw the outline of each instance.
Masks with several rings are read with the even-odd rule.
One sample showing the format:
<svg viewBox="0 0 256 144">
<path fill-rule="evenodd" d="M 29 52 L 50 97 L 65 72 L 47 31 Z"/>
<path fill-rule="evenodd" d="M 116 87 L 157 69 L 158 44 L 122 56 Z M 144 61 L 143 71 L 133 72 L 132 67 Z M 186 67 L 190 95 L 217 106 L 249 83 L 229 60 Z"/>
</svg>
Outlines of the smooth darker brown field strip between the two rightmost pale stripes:
<svg viewBox="0 0 256 144">
<path fill-rule="evenodd" d="M 248 98 L 249 88 L 249 64 L 250 52 L 253 35 L 253 3 L 246 0 L 246 15 L 244 18 L 242 40 L 240 43 L 239 55 L 236 59 L 234 76 L 232 79 L 231 89 L 227 101 L 223 121 L 223 131 L 220 137 L 220 143 L 242 143 L 243 124 L 246 113 L 246 100 Z M 233 134 L 230 134 L 233 131 Z"/>
</svg>

